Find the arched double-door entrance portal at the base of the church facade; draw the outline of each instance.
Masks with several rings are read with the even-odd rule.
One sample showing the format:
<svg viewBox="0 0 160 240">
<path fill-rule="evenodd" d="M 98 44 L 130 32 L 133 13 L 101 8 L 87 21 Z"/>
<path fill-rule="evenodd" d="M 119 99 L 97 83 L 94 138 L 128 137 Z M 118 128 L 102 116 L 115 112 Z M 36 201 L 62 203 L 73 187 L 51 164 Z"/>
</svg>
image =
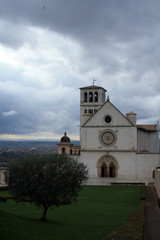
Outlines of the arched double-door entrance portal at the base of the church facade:
<svg viewBox="0 0 160 240">
<path fill-rule="evenodd" d="M 97 162 L 98 177 L 114 178 L 118 175 L 118 163 L 111 155 L 102 156 Z"/>
</svg>

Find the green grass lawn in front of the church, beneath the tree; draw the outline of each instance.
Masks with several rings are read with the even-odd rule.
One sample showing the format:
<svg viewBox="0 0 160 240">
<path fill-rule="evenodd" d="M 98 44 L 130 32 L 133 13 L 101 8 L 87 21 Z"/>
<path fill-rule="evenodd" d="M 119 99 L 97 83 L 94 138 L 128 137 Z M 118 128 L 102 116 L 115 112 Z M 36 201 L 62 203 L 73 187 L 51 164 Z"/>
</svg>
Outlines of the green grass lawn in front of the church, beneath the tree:
<svg viewBox="0 0 160 240">
<path fill-rule="evenodd" d="M 85 186 L 77 203 L 42 209 L 13 200 L 0 203 L 1 240 L 106 240 L 138 206 L 141 187 Z M 0 196 L 6 194 L 0 192 Z"/>
</svg>

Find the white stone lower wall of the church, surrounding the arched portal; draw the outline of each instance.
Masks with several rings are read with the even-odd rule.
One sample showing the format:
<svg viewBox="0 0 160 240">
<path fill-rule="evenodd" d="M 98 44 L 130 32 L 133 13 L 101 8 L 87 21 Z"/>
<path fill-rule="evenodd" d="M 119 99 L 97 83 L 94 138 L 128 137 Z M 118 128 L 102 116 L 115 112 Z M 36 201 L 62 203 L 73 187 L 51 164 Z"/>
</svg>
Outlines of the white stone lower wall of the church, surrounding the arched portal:
<svg viewBox="0 0 160 240">
<path fill-rule="evenodd" d="M 97 162 L 106 156 L 117 161 L 118 175 L 115 178 L 98 178 Z M 110 182 L 154 182 L 153 171 L 160 166 L 159 154 L 136 154 L 135 152 L 82 151 L 81 161 L 89 168 L 89 184 L 109 184 Z M 97 180 L 96 180 L 97 179 Z"/>
</svg>

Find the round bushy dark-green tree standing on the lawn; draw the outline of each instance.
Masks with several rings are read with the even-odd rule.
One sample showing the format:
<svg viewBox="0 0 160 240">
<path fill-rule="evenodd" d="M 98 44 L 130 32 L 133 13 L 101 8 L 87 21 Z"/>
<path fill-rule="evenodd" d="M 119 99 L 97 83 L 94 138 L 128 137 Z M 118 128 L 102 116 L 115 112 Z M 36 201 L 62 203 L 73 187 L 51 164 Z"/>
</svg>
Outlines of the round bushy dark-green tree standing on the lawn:
<svg viewBox="0 0 160 240">
<path fill-rule="evenodd" d="M 7 183 L 16 202 L 30 201 L 43 208 L 46 220 L 49 207 L 75 201 L 88 169 L 66 155 L 23 156 L 9 162 Z"/>
</svg>

